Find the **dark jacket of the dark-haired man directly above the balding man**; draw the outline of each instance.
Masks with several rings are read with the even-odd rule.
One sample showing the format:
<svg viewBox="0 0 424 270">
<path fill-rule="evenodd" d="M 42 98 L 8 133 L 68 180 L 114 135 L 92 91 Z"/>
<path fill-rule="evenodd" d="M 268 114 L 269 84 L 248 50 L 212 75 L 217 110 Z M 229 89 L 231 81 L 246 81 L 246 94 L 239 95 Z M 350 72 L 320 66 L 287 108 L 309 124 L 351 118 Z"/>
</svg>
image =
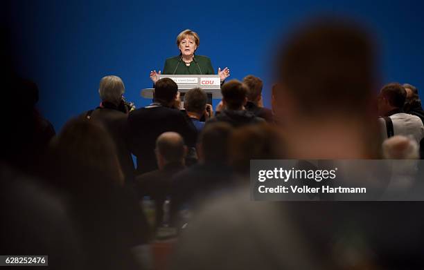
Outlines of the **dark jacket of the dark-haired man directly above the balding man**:
<svg viewBox="0 0 424 270">
<path fill-rule="evenodd" d="M 162 133 L 179 133 L 188 147 L 195 147 L 197 139 L 197 130 L 184 113 L 165 106 L 148 107 L 134 110 L 128 116 L 130 149 L 137 157 L 137 174 L 157 169 L 154 148 Z"/>
</svg>

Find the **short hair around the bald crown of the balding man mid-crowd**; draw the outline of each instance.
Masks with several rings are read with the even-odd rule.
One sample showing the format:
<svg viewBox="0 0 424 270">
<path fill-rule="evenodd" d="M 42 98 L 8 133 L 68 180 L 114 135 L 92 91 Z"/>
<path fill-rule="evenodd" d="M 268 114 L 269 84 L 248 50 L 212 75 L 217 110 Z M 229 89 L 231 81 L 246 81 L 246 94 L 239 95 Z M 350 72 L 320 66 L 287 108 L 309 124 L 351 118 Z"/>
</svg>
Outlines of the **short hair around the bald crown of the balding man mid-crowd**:
<svg viewBox="0 0 424 270">
<path fill-rule="evenodd" d="M 179 162 L 185 155 L 184 139 L 177 135 L 172 139 L 159 136 L 156 140 L 156 149 L 167 162 Z"/>
</svg>

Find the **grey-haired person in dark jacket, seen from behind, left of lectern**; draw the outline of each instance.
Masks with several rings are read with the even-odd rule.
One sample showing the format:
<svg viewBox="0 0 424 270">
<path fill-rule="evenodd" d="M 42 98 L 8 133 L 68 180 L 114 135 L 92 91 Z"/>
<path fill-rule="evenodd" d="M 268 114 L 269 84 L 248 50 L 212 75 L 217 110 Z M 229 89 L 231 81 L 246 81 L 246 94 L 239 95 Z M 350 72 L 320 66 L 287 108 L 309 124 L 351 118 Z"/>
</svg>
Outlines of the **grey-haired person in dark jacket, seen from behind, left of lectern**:
<svg viewBox="0 0 424 270">
<path fill-rule="evenodd" d="M 127 117 L 132 105 L 123 99 L 125 86 L 120 77 L 109 75 L 100 79 L 98 88 L 101 103 L 94 110 L 82 114 L 87 121 L 95 121 L 102 125 L 114 140 L 118 152 L 119 164 L 125 181 L 134 180 L 134 164 L 127 148 Z"/>
</svg>

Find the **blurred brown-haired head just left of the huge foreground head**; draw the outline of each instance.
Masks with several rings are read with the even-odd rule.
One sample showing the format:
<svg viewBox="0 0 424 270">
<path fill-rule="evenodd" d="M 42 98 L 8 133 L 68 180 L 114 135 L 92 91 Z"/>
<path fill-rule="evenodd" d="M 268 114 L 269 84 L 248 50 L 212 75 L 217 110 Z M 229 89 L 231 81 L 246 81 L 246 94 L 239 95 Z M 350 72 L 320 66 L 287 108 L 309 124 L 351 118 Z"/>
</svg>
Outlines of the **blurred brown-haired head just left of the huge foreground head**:
<svg viewBox="0 0 424 270">
<path fill-rule="evenodd" d="M 242 126 L 229 140 L 229 160 L 233 169 L 249 174 L 250 160 L 281 160 L 284 144 L 279 131 L 267 124 Z"/>
</svg>

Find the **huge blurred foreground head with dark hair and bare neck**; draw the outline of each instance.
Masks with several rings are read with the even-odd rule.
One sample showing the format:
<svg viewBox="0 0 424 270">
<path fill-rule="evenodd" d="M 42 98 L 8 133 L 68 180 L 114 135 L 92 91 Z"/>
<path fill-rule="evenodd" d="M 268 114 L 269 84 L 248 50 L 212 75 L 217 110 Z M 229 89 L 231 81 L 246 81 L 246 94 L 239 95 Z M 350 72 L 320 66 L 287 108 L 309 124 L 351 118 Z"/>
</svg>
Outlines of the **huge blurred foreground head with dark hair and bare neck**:
<svg viewBox="0 0 424 270">
<path fill-rule="evenodd" d="M 313 21 L 294 32 L 276 59 L 272 110 L 290 155 L 371 155 L 365 144 L 374 145 L 377 134 L 369 120 L 377 118 L 376 64 L 366 32 L 338 20 Z"/>
</svg>

